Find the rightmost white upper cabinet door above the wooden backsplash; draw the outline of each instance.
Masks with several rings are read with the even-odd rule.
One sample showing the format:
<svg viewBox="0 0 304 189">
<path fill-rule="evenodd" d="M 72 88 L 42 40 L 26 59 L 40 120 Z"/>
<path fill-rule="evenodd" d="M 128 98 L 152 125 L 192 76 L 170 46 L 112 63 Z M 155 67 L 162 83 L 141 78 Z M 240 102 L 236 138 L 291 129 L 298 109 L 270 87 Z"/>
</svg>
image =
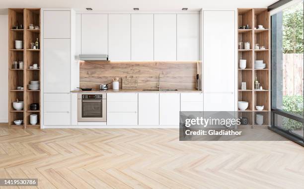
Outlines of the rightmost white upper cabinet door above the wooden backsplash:
<svg viewBox="0 0 304 189">
<path fill-rule="evenodd" d="M 177 14 L 177 61 L 198 61 L 199 14 Z"/>
</svg>

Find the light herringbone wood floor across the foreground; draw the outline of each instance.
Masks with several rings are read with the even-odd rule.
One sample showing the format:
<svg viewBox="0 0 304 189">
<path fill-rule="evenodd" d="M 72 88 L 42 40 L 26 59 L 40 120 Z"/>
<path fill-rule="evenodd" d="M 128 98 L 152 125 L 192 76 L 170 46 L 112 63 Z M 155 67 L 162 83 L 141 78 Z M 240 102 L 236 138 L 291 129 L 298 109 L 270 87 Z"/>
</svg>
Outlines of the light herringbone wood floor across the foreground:
<svg viewBox="0 0 304 189">
<path fill-rule="evenodd" d="M 303 189 L 304 148 L 291 141 L 182 142 L 177 129 L 1 125 L 0 178 L 38 178 L 41 189 Z"/>
</svg>

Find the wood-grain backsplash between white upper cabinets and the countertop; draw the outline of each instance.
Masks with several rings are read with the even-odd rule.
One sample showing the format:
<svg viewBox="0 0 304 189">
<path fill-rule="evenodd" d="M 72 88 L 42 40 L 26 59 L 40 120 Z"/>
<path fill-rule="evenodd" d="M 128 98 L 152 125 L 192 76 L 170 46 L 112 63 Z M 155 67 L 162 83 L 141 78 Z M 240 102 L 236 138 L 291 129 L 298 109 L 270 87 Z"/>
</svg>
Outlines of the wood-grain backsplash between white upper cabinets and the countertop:
<svg viewBox="0 0 304 189">
<path fill-rule="evenodd" d="M 196 62 L 105 62 L 85 61 L 80 63 L 80 87 L 99 90 L 100 84 L 112 83 L 133 75 L 138 79 L 139 89 L 158 89 L 158 74 L 162 89 L 195 89 Z M 112 88 L 112 84 L 108 85 Z"/>
</svg>

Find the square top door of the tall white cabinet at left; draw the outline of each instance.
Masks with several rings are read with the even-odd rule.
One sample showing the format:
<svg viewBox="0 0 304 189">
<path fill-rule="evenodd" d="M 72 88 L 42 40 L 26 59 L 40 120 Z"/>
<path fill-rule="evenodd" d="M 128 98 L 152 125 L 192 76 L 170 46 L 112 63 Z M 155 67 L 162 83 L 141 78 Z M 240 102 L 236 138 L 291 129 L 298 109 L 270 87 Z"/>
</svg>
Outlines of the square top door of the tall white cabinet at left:
<svg viewBox="0 0 304 189">
<path fill-rule="evenodd" d="M 43 11 L 43 38 L 70 38 L 70 28 L 71 11 Z"/>
</svg>

